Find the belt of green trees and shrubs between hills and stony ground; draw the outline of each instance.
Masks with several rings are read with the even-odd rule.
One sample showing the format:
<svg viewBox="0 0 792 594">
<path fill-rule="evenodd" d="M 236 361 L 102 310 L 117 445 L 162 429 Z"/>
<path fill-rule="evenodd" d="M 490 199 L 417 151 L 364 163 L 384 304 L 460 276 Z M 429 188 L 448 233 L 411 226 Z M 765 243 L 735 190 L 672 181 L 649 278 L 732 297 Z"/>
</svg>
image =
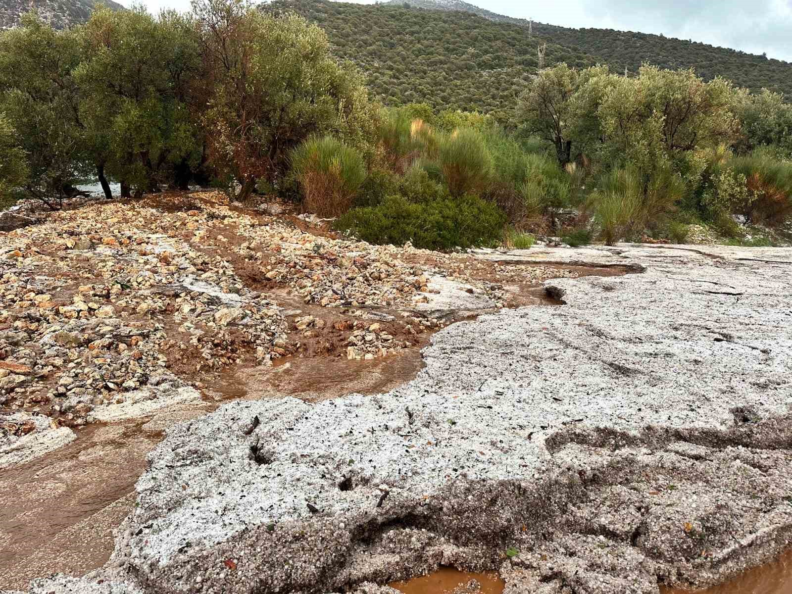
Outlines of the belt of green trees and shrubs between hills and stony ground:
<svg viewBox="0 0 792 594">
<path fill-rule="evenodd" d="M 512 78 L 510 110 L 384 107 L 331 49 L 305 18 L 243 0 L 98 9 L 60 32 L 26 15 L 0 34 L 0 191 L 57 208 L 83 177 L 107 197 L 109 180 L 126 198 L 211 184 L 429 249 L 790 231 L 792 108 L 779 93 L 558 63 Z"/>
</svg>

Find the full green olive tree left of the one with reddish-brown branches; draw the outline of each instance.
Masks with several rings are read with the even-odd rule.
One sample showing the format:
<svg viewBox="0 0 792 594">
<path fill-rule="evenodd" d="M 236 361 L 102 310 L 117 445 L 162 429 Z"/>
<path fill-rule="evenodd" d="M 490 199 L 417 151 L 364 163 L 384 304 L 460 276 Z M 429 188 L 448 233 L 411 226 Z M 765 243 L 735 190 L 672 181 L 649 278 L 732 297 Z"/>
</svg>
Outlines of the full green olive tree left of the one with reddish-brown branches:
<svg viewBox="0 0 792 594">
<path fill-rule="evenodd" d="M 173 183 L 185 162 L 200 158 L 192 109 L 200 53 L 189 17 L 100 7 L 82 38 L 85 59 L 75 78 L 100 180 L 106 168 L 127 196 L 130 188 L 140 195 Z M 184 185 L 185 176 L 179 181 Z"/>
</svg>

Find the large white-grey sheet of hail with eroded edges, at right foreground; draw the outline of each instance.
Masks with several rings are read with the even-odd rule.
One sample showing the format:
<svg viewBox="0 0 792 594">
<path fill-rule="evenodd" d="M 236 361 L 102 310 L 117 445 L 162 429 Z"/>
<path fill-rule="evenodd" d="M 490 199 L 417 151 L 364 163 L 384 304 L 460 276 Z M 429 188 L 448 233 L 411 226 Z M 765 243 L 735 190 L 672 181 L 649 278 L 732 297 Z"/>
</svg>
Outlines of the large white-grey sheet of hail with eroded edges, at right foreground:
<svg viewBox="0 0 792 594">
<path fill-rule="evenodd" d="M 649 594 L 789 546 L 792 250 L 531 257 L 646 272 L 449 326 L 389 394 L 170 429 L 103 587 L 384 592 L 458 565 L 510 591 Z"/>
</svg>

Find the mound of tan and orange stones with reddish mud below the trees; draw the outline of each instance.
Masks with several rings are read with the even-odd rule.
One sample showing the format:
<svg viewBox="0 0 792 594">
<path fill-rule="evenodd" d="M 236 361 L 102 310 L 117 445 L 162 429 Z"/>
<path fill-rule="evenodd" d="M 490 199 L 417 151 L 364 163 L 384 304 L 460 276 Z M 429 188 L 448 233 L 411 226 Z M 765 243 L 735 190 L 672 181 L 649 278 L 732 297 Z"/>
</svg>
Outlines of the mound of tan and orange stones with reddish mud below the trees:
<svg viewBox="0 0 792 594">
<path fill-rule="evenodd" d="M 0 406 L 83 425 L 177 377 L 285 356 L 389 356 L 453 322 L 443 308 L 454 299 L 462 315 L 505 303 L 489 263 L 320 236 L 224 200 L 173 193 L 134 208 L 78 199 L 15 211 L 37 224 L 0 234 L 0 363 L 30 371 L 0 367 Z M 518 266 L 533 283 L 558 276 Z M 295 316 L 314 321 L 295 327 Z M 368 330 L 374 322 L 386 326 Z"/>
</svg>

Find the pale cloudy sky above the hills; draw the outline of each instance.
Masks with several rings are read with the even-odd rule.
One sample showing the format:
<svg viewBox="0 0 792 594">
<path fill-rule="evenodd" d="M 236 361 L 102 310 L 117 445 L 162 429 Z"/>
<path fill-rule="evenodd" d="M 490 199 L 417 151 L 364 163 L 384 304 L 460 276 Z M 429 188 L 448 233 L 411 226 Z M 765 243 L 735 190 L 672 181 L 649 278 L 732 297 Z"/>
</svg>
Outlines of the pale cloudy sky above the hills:
<svg viewBox="0 0 792 594">
<path fill-rule="evenodd" d="M 354 1 L 354 0 L 353 0 Z M 122 0 L 129 6 L 131 0 Z M 143 0 L 188 10 L 189 0 Z M 371 4 L 373 0 L 358 0 Z M 792 0 L 471 0 L 495 13 L 565 27 L 662 33 L 792 62 Z M 650 6 L 649 6 L 650 5 Z"/>
</svg>

